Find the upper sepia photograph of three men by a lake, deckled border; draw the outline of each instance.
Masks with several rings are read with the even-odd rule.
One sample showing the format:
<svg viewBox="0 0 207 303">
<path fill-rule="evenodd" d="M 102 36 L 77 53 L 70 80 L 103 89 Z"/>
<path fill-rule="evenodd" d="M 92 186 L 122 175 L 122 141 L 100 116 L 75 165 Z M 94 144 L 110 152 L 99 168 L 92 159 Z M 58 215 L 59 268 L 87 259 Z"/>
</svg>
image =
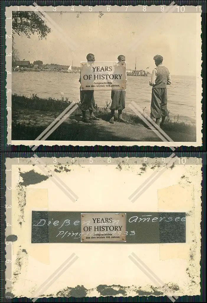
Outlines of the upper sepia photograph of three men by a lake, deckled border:
<svg viewBox="0 0 207 303">
<path fill-rule="evenodd" d="M 201 7 L 140 7 L 12 8 L 12 144 L 202 145 Z M 82 90 L 81 62 L 125 89 Z"/>
</svg>

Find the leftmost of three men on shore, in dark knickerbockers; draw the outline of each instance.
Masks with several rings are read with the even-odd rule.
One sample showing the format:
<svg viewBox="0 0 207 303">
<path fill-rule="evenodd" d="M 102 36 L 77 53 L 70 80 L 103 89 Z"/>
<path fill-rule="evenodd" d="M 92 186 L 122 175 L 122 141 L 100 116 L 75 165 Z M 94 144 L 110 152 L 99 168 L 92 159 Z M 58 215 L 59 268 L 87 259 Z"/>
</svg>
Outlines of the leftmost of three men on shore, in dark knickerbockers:
<svg viewBox="0 0 207 303">
<path fill-rule="evenodd" d="M 95 56 L 93 54 L 88 54 L 86 56 L 88 63 L 86 63 L 86 68 L 90 70 L 89 74 L 92 74 L 91 63 L 95 61 Z M 79 79 L 80 82 L 80 79 Z M 82 110 L 82 122 L 92 123 L 91 120 L 100 120 L 96 118 L 93 114 L 95 108 L 95 99 L 94 99 L 94 91 L 82 91 L 80 88 L 80 109 Z M 86 110 L 89 110 L 90 118 L 86 118 Z"/>
</svg>

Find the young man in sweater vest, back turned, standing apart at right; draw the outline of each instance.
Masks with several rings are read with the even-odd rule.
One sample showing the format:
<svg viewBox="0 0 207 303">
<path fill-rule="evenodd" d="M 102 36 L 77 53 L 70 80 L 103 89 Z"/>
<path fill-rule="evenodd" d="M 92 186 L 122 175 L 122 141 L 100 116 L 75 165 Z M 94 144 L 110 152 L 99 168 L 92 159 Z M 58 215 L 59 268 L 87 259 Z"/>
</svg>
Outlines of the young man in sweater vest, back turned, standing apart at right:
<svg viewBox="0 0 207 303">
<path fill-rule="evenodd" d="M 150 86 L 152 86 L 151 117 L 156 119 L 156 124 L 162 126 L 167 117 L 167 85 L 171 84 L 170 72 L 162 65 L 163 57 L 156 55 L 153 58 L 156 68 L 152 71 Z M 160 118 L 162 121 L 160 122 Z"/>
</svg>

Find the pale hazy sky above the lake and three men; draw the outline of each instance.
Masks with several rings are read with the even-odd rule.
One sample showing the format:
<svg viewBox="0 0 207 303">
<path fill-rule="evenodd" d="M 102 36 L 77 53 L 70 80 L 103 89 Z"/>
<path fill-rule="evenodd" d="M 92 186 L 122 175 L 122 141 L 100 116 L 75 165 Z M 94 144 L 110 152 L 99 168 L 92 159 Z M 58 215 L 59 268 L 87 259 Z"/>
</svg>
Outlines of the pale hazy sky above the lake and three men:
<svg viewBox="0 0 207 303">
<path fill-rule="evenodd" d="M 86 55 L 95 60 L 117 61 L 125 55 L 127 69 L 149 72 L 154 55 L 163 56 L 172 75 L 196 75 L 196 15 L 194 13 L 77 13 L 47 12 L 53 24 L 47 39 L 15 35 L 20 60 L 41 60 L 43 64 L 80 66 Z"/>
</svg>

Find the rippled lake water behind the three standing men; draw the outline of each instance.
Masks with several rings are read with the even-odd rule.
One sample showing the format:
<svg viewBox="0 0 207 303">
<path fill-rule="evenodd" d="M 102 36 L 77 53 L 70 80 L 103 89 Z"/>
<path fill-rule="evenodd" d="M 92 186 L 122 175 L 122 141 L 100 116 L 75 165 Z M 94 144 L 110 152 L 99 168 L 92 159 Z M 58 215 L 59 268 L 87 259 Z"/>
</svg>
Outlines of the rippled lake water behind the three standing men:
<svg viewBox="0 0 207 303">
<path fill-rule="evenodd" d="M 60 72 L 12 72 L 12 94 L 37 94 L 39 97 L 60 99 L 68 97 L 73 102 L 80 100 L 80 74 Z M 129 104 L 134 101 L 144 112 L 150 115 L 151 87 L 148 77 L 128 76 L 125 111 L 132 112 Z M 196 77 L 171 76 L 172 84 L 167 86 L 168 110 L 170 117 L 179 115 L 179 120 L 192 120 L 196 113 Z M 104 107 L 106 101 L 111 101 L 110 91 L 95 91 L 95 102 Z"/>
</svg>

